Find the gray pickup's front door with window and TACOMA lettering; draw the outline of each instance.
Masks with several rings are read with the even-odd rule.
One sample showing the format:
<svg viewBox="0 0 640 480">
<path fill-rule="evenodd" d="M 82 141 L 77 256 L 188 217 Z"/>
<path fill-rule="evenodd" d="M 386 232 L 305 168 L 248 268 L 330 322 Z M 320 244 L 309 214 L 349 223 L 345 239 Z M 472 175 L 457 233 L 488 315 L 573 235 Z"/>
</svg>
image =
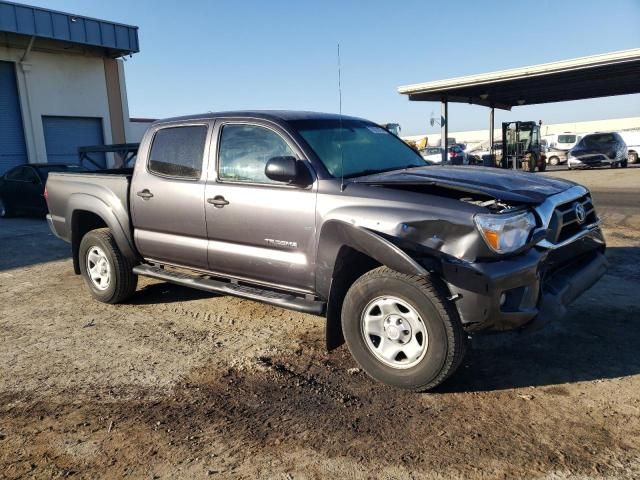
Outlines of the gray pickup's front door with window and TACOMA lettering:
<svg viewBox="0 0 640 480">
<path fill-rule="evenodd" d="M 285 185 L 264 173 L 270 158 L 301 159 L 301 152 L 285 132 L 268 124 L 218 122 L 214 135 L 217 161 L 210 161 L 205 194 L 209 269 L 311 290 L 315 185 Z"/>
</svg>

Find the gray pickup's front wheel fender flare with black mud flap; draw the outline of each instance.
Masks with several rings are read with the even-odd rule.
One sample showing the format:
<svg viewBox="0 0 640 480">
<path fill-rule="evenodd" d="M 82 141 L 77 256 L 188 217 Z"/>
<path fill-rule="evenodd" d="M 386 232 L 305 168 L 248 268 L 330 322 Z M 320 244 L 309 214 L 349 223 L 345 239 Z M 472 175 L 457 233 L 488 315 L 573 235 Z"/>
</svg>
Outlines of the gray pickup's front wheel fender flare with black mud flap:
<svg viewBox="0 0 640 480">
<path fill-rule="evenodd" d="M 344 343 L 341 310 L 348 285 L 335 282 L 333 274 L 340 249 L 345 246 L 398 272 L 409 275 L 428 274 L 418 262 L 378 233 L 341 220 L 327 221 L 320 233 L 316 258 L 316 291 L 327 299 L 327 350 L 333 350 Z"/>
</svg>

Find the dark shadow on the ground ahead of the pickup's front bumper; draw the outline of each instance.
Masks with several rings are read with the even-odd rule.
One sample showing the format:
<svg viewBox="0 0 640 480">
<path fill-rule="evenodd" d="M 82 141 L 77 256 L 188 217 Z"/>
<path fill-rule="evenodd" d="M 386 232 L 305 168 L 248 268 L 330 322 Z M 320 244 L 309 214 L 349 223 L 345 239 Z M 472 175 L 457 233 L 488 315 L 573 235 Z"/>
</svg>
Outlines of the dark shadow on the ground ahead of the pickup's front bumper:
<svg viewBox="0 0 640 480">
<path fill-rule="evenodd" d="M 535 333 L 476 335 L 458 372 L 437 391 L 491 391 L 640 373 L 640 247 L 610 248 L 611 267 L 567 316 Z M 629 270 L 629 271 L 628 271 Z"/>
</svg>

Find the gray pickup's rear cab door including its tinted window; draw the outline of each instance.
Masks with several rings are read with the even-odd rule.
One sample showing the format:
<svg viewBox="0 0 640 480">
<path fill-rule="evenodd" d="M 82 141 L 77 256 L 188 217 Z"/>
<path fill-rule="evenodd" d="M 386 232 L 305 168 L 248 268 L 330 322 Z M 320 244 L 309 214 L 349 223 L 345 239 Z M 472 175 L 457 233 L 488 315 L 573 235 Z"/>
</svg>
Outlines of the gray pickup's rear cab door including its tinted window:
<svg viewBox="0 0 640 480">
<path fill-rule="evenodd" d="M 209 122 L 156 127 L 131 182 L 136 247 L 143 257 L 207 268 L 204 193 Z"/>
</svg>

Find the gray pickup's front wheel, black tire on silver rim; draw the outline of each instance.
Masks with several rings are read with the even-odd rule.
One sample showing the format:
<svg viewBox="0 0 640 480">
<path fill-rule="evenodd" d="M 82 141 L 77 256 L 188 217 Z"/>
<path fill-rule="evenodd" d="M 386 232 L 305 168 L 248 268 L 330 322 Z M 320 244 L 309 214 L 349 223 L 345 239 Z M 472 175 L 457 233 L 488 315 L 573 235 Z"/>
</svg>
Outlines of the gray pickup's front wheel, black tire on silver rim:
<svg viewBox="0 0 640 480">
<path fill-rule="evenodd" d="M 417 392 L 444 382 L 467 348 L 458 312 L 446 299 L 444 286 L 437 279 L 387 267 L 353 283 L 342 307 L 342 331 L 351 355 L 369 376 Z M 386 359 L 384 352 L 391 352 Z"/>
</svg>

